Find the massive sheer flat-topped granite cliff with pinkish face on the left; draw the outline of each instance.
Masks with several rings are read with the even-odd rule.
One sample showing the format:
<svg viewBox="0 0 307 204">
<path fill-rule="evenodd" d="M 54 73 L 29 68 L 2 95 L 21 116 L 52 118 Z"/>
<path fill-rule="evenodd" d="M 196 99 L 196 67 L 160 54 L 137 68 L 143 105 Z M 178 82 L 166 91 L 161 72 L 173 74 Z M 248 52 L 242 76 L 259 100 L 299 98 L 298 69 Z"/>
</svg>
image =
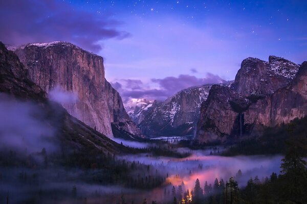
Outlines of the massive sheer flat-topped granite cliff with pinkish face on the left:
<svg viewBox="0 0 307 204">
<path fill-rule="evenodd" d="M 53 90 L 76 95 L 75 103 L 61 103 L 72 116 L 108 137 L 142 136 L 119 93 L 105 80 L 102 57 L 62 41 L 32 43 L 14 52 L 48 95 Z"/>
</svg>

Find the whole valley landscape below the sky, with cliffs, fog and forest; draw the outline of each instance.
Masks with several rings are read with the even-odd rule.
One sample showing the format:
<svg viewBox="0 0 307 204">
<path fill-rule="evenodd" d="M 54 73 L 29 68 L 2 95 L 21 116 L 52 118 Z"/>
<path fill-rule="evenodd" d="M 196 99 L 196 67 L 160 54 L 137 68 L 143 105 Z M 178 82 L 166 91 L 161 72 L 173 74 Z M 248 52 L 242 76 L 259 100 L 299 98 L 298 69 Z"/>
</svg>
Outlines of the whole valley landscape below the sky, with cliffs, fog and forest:
<svg viewBox="0 0 307 204">
<path fill-rule="evenodd" d="M 0 43 L 0 202 L 303 203 L 306 78 L 247 58 L 234 81 L 123 100 L 100 56 Z"/>
</svg>

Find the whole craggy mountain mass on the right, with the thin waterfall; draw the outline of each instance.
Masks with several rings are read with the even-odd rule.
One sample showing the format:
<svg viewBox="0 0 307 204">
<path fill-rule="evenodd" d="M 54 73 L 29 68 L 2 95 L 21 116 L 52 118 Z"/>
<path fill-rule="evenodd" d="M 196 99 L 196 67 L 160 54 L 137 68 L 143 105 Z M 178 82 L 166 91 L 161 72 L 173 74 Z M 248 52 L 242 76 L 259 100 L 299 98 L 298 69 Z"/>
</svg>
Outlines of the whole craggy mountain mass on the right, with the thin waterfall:
<svg viewBox="0 0 307 204">
<path fill-rule="evenodd" d="M 225 142 L 259 135 L 265 126 L 305 116 L 304 66 L 275 56 L 269 62 L 243 60 L 231 87 L 211 88 L 202 104 L 196 139 Z"/>
</svg>

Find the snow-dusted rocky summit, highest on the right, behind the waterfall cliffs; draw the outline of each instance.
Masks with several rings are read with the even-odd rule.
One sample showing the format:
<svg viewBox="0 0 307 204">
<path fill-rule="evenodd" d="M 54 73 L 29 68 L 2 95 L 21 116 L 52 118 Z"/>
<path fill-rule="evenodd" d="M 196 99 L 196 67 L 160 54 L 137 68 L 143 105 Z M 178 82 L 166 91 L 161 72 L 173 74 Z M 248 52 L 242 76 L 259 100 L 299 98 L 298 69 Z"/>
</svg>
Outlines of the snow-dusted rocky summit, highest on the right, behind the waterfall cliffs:
<svg viewBox="0 0 307 204">
<path fill-rule="evenodd" d="M 272 94 L 287 86 L 298 68 L 297 64 L 275 56 L 270 56 L 269 62 L 247 58 L 235 76 L 232 89 L 244 96 Z"/>
</svg>

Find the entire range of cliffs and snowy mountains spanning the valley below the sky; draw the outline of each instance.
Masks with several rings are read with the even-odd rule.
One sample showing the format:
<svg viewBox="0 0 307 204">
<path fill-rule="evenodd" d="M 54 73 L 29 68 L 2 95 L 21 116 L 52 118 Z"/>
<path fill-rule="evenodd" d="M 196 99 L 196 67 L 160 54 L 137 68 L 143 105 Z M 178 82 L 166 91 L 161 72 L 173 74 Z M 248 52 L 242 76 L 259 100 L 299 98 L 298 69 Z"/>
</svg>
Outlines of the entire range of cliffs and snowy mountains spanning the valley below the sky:
<svg viewBox="0 0 307 204">
<path fill-rule="evenodd" d="M 104 78 L 100 56 L 62 41 L 10 47 L 12 52 L 4 45 L 2 49 L 4 56 L 12 58 L 11 64 L 14 60 L 16 66 L 24 64 L 20 70 L 29 74 L 21 78 L 35 85 L 33 93 L 45 94 L 44 100 L 57 88 L 74 94 L 73 103 L 60 102 L 67 114 L 108 137 L 195 135 L 201 143 L 225 142 L 257 137 L 266 126 L 307 115 L 306 62 L 298 65 L 275 56 L 268 62 L 247 58 L 234 81 L 190 87 L 163 102 L 133 98 L 124 105 Z M 2 89 L 27 97 L 28 91 L 20 88 L 25 84 L 19 81 L 18 91 Z M 36 97 L 41 96 L 31 95 Z"/>
</svg>

